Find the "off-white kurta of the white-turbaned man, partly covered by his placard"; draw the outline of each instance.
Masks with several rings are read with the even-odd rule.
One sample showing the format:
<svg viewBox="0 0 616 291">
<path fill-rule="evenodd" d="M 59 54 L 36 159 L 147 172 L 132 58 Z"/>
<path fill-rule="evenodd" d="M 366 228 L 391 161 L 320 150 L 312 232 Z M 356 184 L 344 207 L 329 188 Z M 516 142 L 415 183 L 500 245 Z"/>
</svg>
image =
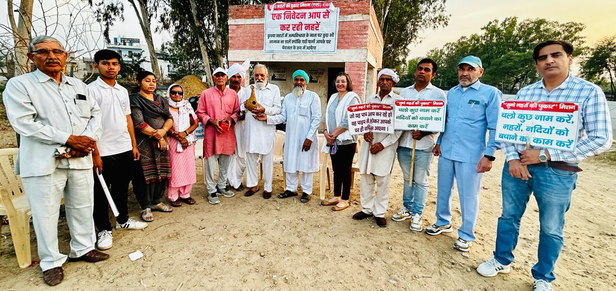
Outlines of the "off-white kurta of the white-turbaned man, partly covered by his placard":
<svg viewBox="0 0 616 291">
<path fill-rule="evenodd" d="M 383 97 L 383 100 L 378 94 L 368 97 L 366 103 L 381 103 L 394 105 L 395 99 L 400 99 L 400 95 L 393 91 Z M 359 173 L 375 174 L 376 176 L 387 176 L 391 174 L 392 166 L 394 166 L 395 150 L 398 148 L 398 139 L 403 131 L 397 130 L 393 134 L 387 133 L 372 133 L 374 137 L 370 144 L 365 142 L 362 146 L 362 152 L 359 154 Z M 370 147 L 377 143 L 383 144 L 385 147 L 376 155 L 370 154 Z"/>
</svg>

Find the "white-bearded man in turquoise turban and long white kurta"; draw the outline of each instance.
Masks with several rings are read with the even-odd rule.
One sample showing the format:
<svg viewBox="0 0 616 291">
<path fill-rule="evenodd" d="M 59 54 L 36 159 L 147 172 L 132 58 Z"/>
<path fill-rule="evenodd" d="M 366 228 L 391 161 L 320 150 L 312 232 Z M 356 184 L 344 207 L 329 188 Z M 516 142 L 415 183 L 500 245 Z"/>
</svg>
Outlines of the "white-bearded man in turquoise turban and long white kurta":
<svg viewBox="0 0 616 291">
<path fill-rule="evenodd" d="M 318 171 L 317 129 L 321 122 L 321 99 L 317 93 L 307 88 L 310 78 L 303 70 L 293 73 L 293 90 L 286 94 L 282 111 L 278 115 L 255 115 L 268 125 L 286 121 L 285 150 L 283 168 L 286 173 L 286 191 L 278 198 L 298 195 L 299 172 L 302 172 L 302 197 L 306 203 L 312 194 L 312 174 Z M 313 145 L 315 143 L 315 145 Z"/>
</svg>

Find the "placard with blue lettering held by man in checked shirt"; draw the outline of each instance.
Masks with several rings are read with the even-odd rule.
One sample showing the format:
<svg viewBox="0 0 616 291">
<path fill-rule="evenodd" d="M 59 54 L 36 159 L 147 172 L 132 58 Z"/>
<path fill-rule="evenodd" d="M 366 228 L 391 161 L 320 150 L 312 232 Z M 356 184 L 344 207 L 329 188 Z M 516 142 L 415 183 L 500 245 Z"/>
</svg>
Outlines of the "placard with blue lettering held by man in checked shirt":
<svg viewBox="0 0 616 291">
<path fill-rule="evenodd" d="M 496 141 L 572 152 L 580 122 L 574 102 L 504 101 L 498 109 Z"/>
</svg>

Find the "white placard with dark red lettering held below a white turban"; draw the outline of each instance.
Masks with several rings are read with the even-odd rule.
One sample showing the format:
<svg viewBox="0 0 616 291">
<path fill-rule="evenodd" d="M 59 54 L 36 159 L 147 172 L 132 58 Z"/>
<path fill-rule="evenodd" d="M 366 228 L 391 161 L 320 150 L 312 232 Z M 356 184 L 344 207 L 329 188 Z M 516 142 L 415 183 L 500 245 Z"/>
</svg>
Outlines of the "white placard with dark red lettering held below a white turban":
<svg viewBox="0 0 616 291">
<path fill-rule="evenodd" d="M 349 133 L 394 133 L 394 106 L 379 103 L 349 105 Z"/>
</svg>

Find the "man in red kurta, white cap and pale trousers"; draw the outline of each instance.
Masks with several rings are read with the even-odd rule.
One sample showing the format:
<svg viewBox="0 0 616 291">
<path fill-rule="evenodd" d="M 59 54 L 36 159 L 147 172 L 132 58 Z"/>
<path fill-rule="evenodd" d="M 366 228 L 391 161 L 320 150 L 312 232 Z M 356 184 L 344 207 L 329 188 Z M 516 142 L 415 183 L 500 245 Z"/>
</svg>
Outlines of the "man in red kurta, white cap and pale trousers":
<svg viewBox="0 0 616 291">
<path fill-rule="evenodd" d="M 221 203 L 218 194 L 225 197 L 235 195 L 227 189 L 227 169 L 229 161 L 235 152 L 235 133 L 233 125 L 237 121 L 237 113 L 240 111 L 240 103 L 237 93 L 225 87 L 227 72 L 222 68 L 214 70 L 213 88 L 201 92 L 197 117 L 203 123 L 203 158 L 206 159 L 205 173 L 208 187 L 209 203 Z M 218 183 L 214 181 L 214 171 L 218 162 Z"/>
</svg>

